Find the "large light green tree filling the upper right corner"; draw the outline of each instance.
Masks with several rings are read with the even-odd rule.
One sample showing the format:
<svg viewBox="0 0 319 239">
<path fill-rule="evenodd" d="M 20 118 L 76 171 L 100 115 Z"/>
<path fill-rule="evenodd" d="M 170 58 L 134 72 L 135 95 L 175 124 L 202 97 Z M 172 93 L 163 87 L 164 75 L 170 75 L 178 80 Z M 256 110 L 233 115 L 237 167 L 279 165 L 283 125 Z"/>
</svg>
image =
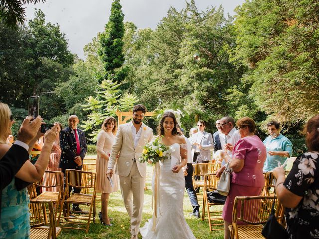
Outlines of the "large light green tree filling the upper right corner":
<svg viewBox="0 0 319 239">
<path fill-rule="evenodd" d="M 268 119 L 286 126 L 319 113 L 319 2 L 252 0 L 237 10 L 235 59 Z"/>
</svg>

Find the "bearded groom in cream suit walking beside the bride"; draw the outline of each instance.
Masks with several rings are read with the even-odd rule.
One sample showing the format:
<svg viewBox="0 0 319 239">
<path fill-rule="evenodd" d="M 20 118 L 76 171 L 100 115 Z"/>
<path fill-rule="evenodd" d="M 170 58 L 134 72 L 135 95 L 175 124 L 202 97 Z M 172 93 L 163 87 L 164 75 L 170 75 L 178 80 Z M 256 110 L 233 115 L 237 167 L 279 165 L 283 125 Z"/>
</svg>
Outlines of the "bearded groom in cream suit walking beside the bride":
<svg viewBox="0 0 319 239">
<path fill-rule="evenodd" d="M 117 163 L 115 173 L 119 175 L 124 205 L 131 220 L 131 239 L 138 238 L 142 220 L 146 164 L 140 163 L 139 158 L 145 143 L 153 137 L 152 129 L 142 123 L 145 113 L 145 106 L 135 105 L 132 121 L 119 126 L 107 171 L 111 177 Z"/>
</svg>

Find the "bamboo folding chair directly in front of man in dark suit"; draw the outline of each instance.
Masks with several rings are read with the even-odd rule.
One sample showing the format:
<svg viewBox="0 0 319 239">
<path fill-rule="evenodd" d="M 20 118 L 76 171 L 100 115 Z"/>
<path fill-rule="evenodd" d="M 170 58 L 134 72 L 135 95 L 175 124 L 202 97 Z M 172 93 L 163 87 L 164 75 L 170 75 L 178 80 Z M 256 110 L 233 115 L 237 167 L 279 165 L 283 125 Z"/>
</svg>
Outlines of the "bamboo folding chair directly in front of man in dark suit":
<svg viewBox="0 0 319 239">
<path fill-rule="evenodd" d="M 61 228 L 72 228 L 89 231 L 92 209 L 93 209 L 93 222 L 95 220 L 95 197 L 96 197 L 96 173 L 85 172 L 74 169 L 66 170 L 65 177 L 65 191 L 63 195 L 62 205 L 65 205 L 66 212 L 62 216 L 62 208 L 60 208 L 59 218 L 57 225 L 59 226 L 61 222 L 61 217 L 64 220 L 63 224 L 76 224 L 79 227 L 66 227 L 61 226 Z M 93 189 L 92 194 L 84 193 L 72 193 L 69 192 L 69 187 L 81 188 L 81 189 Z M 82 204 L 88 205 L 90 207 L 89 212 L 75 212 L 70 209 L 71 204 Z M 83 223 L 82 221 L 87 221 Z M 85 228 L 81 226 L 86 225 Z"/>
</svg>

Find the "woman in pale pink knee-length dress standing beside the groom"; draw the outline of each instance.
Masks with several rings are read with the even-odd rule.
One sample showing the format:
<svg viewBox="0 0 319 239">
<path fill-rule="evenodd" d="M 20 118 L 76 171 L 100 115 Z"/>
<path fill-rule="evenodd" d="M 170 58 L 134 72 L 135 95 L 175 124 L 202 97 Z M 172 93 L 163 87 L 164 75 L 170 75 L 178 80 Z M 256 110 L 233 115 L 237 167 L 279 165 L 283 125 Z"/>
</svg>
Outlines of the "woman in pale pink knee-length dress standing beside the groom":
<svg viewBox="0 0 319 239">
<path fill-rule="evenodd" d="M 101 194 L 102 209 L 99 213 L 100 221 L 105 226 L 112 226 L 108 217 L 108 201 L 110 193 L 118 190 L 119 176 L 113 174 L 111 181 L 107 178 L 106 171 L 108 169 L 109 156 L 112 145 L 114 144 L 116 134 L 116 119 L 107 117 L 103 124 L 102 130 L 99 132 L 96 142 L 96 173 L 97 173 L 97 192 Z"/>
</svg>

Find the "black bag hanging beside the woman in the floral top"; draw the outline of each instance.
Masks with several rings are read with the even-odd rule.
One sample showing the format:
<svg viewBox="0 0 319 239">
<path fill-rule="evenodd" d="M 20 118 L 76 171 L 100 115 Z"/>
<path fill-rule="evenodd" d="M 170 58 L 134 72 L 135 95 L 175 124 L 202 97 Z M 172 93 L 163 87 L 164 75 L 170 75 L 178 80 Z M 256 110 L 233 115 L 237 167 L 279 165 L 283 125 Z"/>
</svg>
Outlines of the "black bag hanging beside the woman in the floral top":
<svg viewBox="0 0 319 239">
<path fill-rule="evenodd" d="M 274 200 L 273 204 L 271 207 L 271 212 L 269 215 L 269 218 L 261 231 L 261 234 L 266 238 L 266 239 L 288 239 L 288 233 L 287 230 L 281 225 L 276 217 L 275 217 L 275 198 L 276 198 L 276 192 L 274 195 Z"/>
</svg>

